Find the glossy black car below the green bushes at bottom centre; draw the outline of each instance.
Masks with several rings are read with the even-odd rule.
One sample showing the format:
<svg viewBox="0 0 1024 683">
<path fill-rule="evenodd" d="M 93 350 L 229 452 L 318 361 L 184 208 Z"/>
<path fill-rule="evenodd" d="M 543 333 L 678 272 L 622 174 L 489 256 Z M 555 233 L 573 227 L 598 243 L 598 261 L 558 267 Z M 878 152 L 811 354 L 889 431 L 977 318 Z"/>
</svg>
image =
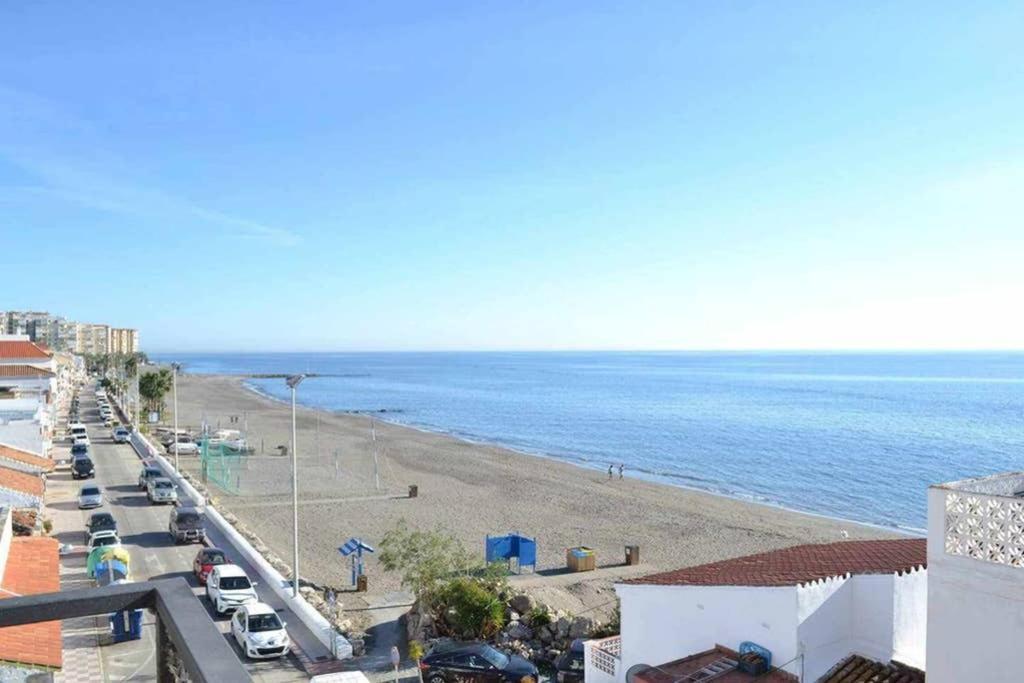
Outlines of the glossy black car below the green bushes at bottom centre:
<svg viewBox="0 0 1024 683">
<path fill-rule="evenodd" d="M 427 683 L 537 683 L 539 672 L 518 654 L 505 654 L 487 643 L 435 645 L 420 663 Z"/>
</svg>

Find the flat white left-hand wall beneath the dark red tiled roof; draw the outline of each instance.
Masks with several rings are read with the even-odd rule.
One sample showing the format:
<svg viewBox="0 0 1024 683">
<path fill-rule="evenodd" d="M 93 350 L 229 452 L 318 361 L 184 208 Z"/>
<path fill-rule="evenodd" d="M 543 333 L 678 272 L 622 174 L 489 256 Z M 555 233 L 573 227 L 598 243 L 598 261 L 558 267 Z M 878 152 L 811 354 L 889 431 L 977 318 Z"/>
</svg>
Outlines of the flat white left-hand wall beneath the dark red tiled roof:
<svg viewBox="0 0 1024 683">
<path fill-rule="evenodd" d="M 636 664 L 656 666 L 752 640 L 776 666 L 797 654 L 797 589 L 617 585 L 622 605 L 620 680 Z M 796 669 L 787 669 L 796 673 Z"/>
</svg>

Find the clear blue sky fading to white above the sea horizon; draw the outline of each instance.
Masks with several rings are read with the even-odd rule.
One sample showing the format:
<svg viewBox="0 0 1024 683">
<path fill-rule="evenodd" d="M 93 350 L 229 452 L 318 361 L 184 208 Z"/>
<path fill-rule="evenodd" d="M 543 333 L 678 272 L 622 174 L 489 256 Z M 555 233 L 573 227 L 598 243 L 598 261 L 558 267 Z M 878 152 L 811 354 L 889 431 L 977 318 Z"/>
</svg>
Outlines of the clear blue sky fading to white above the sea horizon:
<svg viewBox="0 0 1024 683">
<path fill-rule="evenodd" d="M 0 309 L 151 350 L 1024 346 L 1020 3 L 158 4 L 0 7 Z"/>
</svg>

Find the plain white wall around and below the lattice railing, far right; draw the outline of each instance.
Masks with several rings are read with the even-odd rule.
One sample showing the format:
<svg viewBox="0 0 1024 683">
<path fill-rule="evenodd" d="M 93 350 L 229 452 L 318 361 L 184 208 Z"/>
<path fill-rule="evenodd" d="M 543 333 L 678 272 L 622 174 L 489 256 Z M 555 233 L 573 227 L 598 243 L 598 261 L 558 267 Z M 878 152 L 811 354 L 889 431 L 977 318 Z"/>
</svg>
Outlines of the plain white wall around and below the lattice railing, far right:
<svg viewBox="0 0 1024 683">
<path fill-rule="evenodd" d="M 947 555 L 945 493 L 928 492 L 928 683 L 1024 680 L 1024 568 Z"/>
</svg>

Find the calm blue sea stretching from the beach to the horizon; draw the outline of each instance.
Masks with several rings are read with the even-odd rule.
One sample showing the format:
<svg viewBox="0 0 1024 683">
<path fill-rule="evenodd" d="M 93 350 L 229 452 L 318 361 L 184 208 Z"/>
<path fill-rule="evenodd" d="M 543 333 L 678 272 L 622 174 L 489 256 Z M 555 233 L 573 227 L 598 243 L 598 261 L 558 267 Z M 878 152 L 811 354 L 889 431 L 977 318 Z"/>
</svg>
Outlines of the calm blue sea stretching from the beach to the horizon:
<svg viewBox="0 0 1024 683">
<path fill-rule="evenodd" d="M 170 360 L 165 355 L 157 357 Z M 930 483 L 1024 469 L 1024 353 L 198 353 L 301 402 L 798 510 L 923 528 Z M 283 380 L 252 380 L 286 397 Z"/>
</svg>

